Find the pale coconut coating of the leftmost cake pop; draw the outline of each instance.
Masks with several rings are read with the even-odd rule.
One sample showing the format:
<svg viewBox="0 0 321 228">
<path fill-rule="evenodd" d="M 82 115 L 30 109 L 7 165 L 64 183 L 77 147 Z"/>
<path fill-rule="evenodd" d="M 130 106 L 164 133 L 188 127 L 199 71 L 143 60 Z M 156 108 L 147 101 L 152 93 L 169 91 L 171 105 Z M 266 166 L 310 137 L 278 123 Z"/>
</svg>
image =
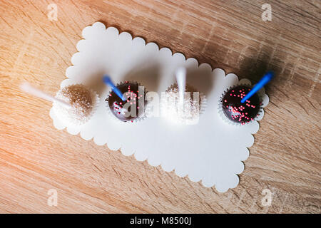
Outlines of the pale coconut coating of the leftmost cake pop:
<svg viewBox="0 0 321 228">
<path fill-rule="evenodd" d="M 93 110 L 93 98 L 91 90 L 88 90 L 81 84 L 66 86 L 58 91 L 56 98 L 66 101 L 71 104 L 72 108 L 64 108 L 61 105 L 56 105 L 56 110 L 61 112 L 66 120 L 75 124 L 86 123 L 91 117 Z"/>
</svg>

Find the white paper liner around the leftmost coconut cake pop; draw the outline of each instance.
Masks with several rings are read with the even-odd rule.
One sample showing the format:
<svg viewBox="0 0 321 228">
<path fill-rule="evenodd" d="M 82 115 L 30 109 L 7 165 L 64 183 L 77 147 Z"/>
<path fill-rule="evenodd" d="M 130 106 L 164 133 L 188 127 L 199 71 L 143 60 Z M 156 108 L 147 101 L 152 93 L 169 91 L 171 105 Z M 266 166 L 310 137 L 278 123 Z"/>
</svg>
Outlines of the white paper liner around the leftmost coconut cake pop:
<svg viewBox="0 0 321 228">
<path fill-rule="evenodd" d="M 92 90 L 91 88 L 88 88 L 87 86 L 84 86 L 82 83 L 73 83 L 67 86 L 75 86 L 75 85 L 81 85 L 87 90 L 89 90 L 89 92 L 91 93 L 91 101 L 93 106 L 91 108 L 91 113 L 87 115 L 86 118 L 84 118 L 83 120 L 71 118 L 68 115 L 68 110 L 66 108 L 61 107 L 61 105 L 56 102 L 53 103 L 53 110 L 56 116 L 59 118 L 59 120 L 61 120 L 61 122 L 63 123 L 66 123 L 66 125 L 81 126 L 81 125 L 84 125 L 85 123 L 88 123 L 88 121 L 91 120 L 93 115 L 96 113 L 98 109 L 98 105 L 100 103 L 100 99 L 96 91 Z M 63 88 L 66 88 L 66 86 L 64 86 Z M 62 90 L 63 88 L 61 88 L 60 90 Z M 56 93 L 56 96 L 58 95 L 59 91 Z"/>
</svg>

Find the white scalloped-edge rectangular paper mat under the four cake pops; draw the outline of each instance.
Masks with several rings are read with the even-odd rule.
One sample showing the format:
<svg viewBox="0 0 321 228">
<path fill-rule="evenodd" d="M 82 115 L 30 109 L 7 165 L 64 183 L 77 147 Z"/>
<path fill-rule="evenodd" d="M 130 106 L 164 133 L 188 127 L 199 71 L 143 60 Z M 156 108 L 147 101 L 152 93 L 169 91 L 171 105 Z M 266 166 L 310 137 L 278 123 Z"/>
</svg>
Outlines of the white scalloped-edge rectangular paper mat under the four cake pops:
<svg viewBox="0 0 321 228">
<path fill-rule="evenodd" d="M 85 140 L 120 149 L 123 155 L 134 155 L 136 160 L 147 159 L 150 165 L 161 165 L 168 172 L 175 170 L 180 177 L 188 175 L 205 187 L 215 185 L 218 192 L 238 185 L 238 174 L 244 170 L 242 161 L 248 158 L 248 147 L 253 145 L 253 134 L 259 129 L 258 121 L 234 126 L 218 114 L 220 95 L 239 83 L 238 76 L 225 75 L 219 68 L 212 70 L 208 63 L 198 66 L 195 58 L 185 59 L 181 53 L 159 49 L 156 43 L 146 44 L 143 38 L 132 38 L 127 32 L 119 34 L 116 28 L 106 29 L 100 22 L 84 28 L 82 34 L 84 39 L 77 43 L 78 53 L 71 58 L 73 66 L 67 68 L 68 78 L 61 88 L 83 83 L 96 90 L 101 102 L 93 118 L 81 127 L 62 123 L 51 108 L 55 128 L 67 128 L 72 135 L 80 133 Z M 179 66 L 187 68 L 187 83 L 206 95 L 207 107 L 197 125 L 174 125 L 163 118 L 123 124 L 108 115 L 104 100 L 109 89 L 101 83 L 103 74 L 115 82 L 138 81 L 148 91 L 161 94 L 175 82 L 174 72 Z M 240 82 L 250 83 L 247 79 Z M 264 107 L 268 97 L 264 89 L 260 93 Z"/>
</svg>

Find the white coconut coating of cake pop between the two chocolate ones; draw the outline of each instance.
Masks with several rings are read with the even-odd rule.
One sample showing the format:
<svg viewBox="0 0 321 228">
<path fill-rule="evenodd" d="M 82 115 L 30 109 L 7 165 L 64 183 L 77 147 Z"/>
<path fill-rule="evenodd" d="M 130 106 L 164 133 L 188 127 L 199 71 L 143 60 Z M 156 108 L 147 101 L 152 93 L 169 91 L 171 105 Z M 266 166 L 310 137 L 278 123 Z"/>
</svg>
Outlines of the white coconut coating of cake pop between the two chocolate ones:
<svg viewBox="0 0 321 228">
<path fill-rule="evenodd" d="M 200 94 L 193 87 L 186 85 L 183 105 L 180 104 L 178 85 L 175 83 L 162 96 L 162 115 L 180 124 L 198 123 L 200 115 Z M 186 93 L 189 92 L 189 93 Z"/>
</svg>

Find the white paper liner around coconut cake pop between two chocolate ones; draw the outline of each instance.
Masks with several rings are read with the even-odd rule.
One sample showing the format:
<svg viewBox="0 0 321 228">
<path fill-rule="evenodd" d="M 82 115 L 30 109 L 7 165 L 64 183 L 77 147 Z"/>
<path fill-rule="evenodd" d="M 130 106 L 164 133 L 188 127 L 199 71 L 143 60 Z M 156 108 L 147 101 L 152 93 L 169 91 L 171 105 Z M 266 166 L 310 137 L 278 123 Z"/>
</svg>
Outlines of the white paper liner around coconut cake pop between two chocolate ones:
<svg viewBox="0 0 321 228">
<path fill-rule="evenodd" d="M 171 88 L 172 86 L 177 86 L 177 83 L 173 83 L 172 85 L 170 85 L 168 87 L 168 89 Z M 186 84 L 186 86 L 192 88 L 195 92 L 198 92 L 195 88 L 193 88 L 193 86 L 190 86 L 188 84 Z M 167 92 L 167 90 L 165 92 Z M 206 97 L 205 97 L 205 95 L 203 93 L 201 93 L 201 92 L 198 92 L 198 93 L 199 93 L 199 99 L 200 99 L 198 116 L 200 116 L 205 112 L 205 109 L 207 107 L 207 100 L 206 100 Z M 163 110 L 166 108 L 166 103 L 164 103 L 163 99 L 161 100 L 161 103 L 160 103 L 161 116 L 163 118 L 168 118 L 172 122 L 175 122 L 175 123 L 180 124 L 180 125 L 194 125 L 194 124 L 196 124 L 196 123 L 194 123 L 195 121 L 189 120 L 188 118 L 186 118 L 186 119 L 184 119 L 184 118 L 175 118 L 175 117 L 173 117 L 171 115 L 163 115 Z"/>
</svg>

